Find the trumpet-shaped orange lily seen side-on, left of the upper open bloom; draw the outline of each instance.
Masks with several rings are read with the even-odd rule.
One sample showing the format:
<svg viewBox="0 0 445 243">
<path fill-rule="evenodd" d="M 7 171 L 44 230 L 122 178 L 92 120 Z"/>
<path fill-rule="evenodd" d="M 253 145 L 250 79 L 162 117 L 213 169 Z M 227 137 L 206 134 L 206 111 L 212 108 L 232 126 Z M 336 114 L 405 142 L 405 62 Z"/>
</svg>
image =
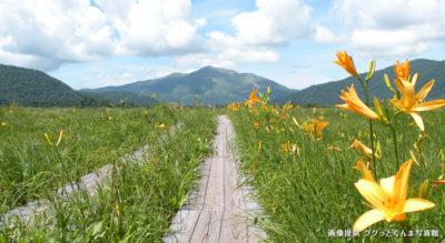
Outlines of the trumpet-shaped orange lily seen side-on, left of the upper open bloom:
<svg viewBox="0 0 445 243">
<path fill-rule="evenodd" d="M 342 90 L 343 95 L 339 95 L 339 98 L 343 101 L 345 101 L 346 103 L 345 104 L 336 104 L 335 107 L 356 112 L 368 119 L 380 120 L 380 117 L 378 117 L 378 114 L 376 112 L 370 110 L 370 108 L 368 108 L 358 98 L 357 93 L 355 92 L 354 84 L 352 84 L 350 88 L 347 88 L 347 89 L 348 89 L 348 92 Z"/>
</svg>

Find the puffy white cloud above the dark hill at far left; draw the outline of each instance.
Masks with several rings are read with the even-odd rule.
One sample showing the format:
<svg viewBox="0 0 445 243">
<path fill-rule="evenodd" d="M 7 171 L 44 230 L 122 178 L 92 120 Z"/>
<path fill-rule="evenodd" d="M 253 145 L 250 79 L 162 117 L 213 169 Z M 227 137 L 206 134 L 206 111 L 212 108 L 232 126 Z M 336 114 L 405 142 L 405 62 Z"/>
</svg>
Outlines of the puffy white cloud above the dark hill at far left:
<svg viewBox="0 0 445 243">
<path fill-rule="evenodd" d="M 112 50 L 111 28 L 88 0 L 2 0 L 0 16 L 3 63 L 53 70 Z"/>
</svg>

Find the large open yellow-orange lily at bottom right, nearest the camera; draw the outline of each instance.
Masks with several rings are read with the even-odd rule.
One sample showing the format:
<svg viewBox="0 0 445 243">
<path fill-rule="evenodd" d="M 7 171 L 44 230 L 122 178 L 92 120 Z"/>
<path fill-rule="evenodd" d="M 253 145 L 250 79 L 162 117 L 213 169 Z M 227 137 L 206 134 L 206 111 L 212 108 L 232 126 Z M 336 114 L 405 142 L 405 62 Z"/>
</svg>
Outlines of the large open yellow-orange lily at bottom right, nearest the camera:
<svg viewBox="0 0 445 243">
<path fill-rule="evenodd" d="M 395 176 L 384 178 L 379 184 L 370 173 L 355 183 L 358 192 L 370 204 L 372 210 L 357 219 L 353 226 L 354 231 L 363 231 L 383 220 L 388 223 L 402 222 L 406 220 L 406 213 L 436 206 L 433 202 L 424 199 L 406 200 L 412 165 L 412 160 L 406 161 Z M 366 170 L 363 168 L 363 171 Z"/>
</svg>

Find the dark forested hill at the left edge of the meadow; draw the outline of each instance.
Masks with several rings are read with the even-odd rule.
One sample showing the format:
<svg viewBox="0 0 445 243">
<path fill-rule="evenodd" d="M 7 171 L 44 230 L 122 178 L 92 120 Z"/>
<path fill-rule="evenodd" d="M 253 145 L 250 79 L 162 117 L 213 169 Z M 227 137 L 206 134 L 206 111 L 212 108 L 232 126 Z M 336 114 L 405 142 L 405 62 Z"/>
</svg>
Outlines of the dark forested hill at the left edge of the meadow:
<svg viewBox="0 0 445 243">
<path fill-rule="evenodd" d="M 0 105 L 52 107 L 108 105 L 108 101 L 81 94 L 41 71 L 0 64 Z"/>
</svg>

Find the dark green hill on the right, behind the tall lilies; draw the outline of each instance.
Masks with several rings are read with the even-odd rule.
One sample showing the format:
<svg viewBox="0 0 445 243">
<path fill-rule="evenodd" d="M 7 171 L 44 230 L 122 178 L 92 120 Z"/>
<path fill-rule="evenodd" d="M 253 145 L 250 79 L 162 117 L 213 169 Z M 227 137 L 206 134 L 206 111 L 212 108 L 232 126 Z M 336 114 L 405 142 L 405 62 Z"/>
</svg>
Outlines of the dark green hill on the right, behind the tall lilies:
<svg viewBox="0 0 445 243">
<path fill-rule="evenodd" d="M 435 83 L 426 100 L 433 99 L 445 99 L 445 61 L 433 61 L 426 59 L 417 59 L 409 62 L 411 73 L 418 72 L 418 80 L 416 84 L 416 92 L 421 88 L 435 79 Z M 393 80 L 395 79 L 394 65 L 387 67 L 383 70 L 375 71 L 373 79 L 369 81 L 369 98 L 377 97 L 379 99 L 392 99 L 393 93 L 387 89 L 384 74 L 388 74 L 393 89 L 396 89 Z M 339 67 L 338 67 L 339 68 Z M 365 80 L 367 73 L 362 73 L 360 77 Z M 340 90 L 346 90 L 346 87 L 350 87 L 354 83 L 358 95 L 364 100 L 364 92 L 359 82 L 354 77 L 348 77 L 339 81 L 327 82 L 318 85 L 313 85 L 300 91 L 297 91 L 290 95 L 275 99 L 274 102 L 284 104 L 288 101 L 291 103 L 300 104 L 339 104 L 343 101 L 338 98 Z"/>
</svg>

